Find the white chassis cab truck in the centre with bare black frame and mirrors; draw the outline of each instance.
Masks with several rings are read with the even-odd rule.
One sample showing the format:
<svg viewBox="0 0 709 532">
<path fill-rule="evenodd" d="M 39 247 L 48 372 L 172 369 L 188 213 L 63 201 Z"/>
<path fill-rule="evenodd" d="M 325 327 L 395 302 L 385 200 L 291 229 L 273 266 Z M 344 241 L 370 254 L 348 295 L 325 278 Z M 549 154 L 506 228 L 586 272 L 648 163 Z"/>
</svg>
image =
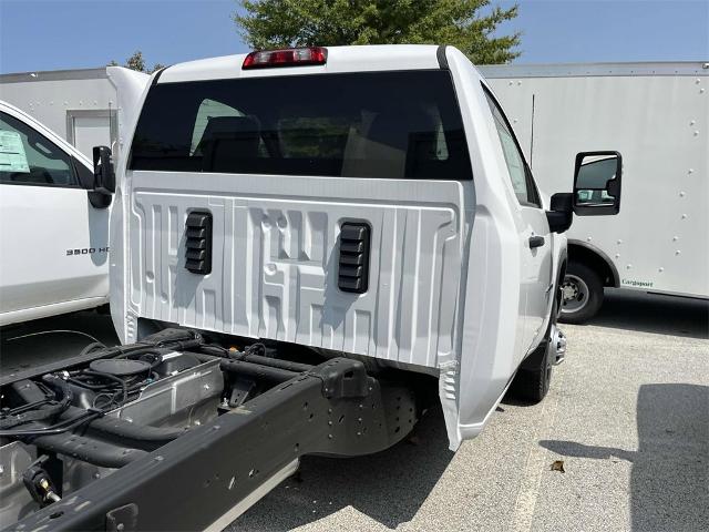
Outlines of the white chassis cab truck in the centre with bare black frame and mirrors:
<svg viewBox="0 0 709 532">
<path fill-rule="evenodd" d="M 510 387 L 544 398 L 563 233 L 618 212 L 619 154 L 578 154 L 607 174 L 544 205 L 450 47 L 178 64 L 136 115 L 115 177 L 94 152 L 123 346 L 3 376 L 9 530 L 220 530 L 301 456 L 386 449 L 433 401 L 458 449 Z"/>
</svg>

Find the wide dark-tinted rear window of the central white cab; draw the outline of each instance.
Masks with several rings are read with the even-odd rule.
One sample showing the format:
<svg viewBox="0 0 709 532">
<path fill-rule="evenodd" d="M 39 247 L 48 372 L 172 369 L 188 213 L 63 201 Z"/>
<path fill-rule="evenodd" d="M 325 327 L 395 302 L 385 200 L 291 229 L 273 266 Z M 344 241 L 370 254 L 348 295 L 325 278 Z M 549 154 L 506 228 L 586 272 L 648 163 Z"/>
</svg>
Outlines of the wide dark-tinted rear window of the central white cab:
<svg viewBox="0 0 709 532">
<path fill-rule="evenodd" d="M 469 180 L 450 73 L 402 71 L 157 84 L 131 170 Z"/>
</svg>

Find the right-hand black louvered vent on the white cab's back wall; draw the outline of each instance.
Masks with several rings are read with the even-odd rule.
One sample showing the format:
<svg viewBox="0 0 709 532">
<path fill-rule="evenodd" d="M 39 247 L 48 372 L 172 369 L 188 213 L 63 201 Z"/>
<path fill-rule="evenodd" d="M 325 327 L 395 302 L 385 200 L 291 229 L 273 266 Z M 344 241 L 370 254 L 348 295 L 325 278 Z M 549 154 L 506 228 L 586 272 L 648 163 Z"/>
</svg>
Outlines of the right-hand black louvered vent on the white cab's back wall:
<svg viewBox="0 0 709 532">
<path fill-rule="evenodd" d="M 364 294 L 369 286 L 369 225 L 342 224 L 339 266 L 337 286 L 340 290 Z"/>
</svg>

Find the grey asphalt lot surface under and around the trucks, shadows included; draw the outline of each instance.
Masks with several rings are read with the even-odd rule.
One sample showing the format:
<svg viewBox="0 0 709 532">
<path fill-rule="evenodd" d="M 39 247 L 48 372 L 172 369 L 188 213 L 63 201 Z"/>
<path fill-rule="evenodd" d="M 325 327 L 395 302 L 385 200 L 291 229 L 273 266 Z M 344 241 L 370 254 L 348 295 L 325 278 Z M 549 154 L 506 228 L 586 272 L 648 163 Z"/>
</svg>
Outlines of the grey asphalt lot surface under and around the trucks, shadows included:
<svg viewBox="0 0 709 532">
<path fill-rule="evenodd" d="M 11 327 L 3 372 L 60 349 L 56 335 L 32 350 L 13 337 L 64 328 L 116 341 L 93 314 Z M 306 457 L 227 531 L 709 530 L 709 304 L 612 293 L 592 324 L 564 330 L 541 405 L 503 401 L 456 453 L 432 411 L 382 453 Z"/>
</svg>

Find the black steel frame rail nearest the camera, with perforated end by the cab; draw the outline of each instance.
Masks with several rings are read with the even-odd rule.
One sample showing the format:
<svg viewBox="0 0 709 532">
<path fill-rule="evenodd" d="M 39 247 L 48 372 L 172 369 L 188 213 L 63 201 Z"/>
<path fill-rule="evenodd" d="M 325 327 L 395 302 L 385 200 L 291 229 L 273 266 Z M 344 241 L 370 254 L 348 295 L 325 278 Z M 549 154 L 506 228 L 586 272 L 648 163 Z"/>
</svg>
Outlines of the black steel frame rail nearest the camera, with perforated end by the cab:
<svg viewBox="0 0 709 532">
<path fill-rule="evenodd" d="M 304 454 L 391 447 L 415 397 L 335 358 L 186 432 L 6 531 L 220 530 L 295 472 Z"/>
</svg>

